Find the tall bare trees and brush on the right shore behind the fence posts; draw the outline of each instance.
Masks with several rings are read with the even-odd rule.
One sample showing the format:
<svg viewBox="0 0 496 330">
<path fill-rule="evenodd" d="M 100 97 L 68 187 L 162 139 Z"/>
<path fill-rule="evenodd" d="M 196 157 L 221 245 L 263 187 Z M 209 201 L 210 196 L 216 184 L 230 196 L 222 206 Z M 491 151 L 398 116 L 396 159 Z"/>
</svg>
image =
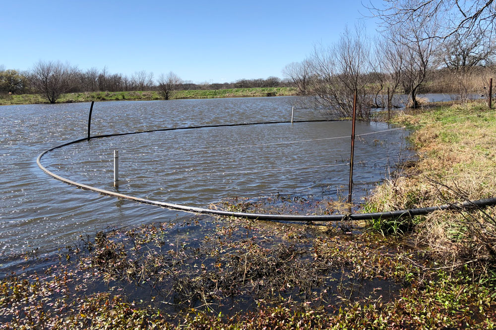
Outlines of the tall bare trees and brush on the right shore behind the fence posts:
<svg viewBox="0 0 496 330">
<path fill-rule="evenodd" d="M 384 0 L 369 8 L 381 22 L 378 36 L 368 36 L 361 26 L 345 29 L 338 42 L 316 45 L 283 73 L 308 96 L 298 106 L 349 116 L 357 91 L 362 118 L 372 108 L 394 105 L 395 94 L 408 94 L 412 107 L 420 105 L 421 92 L 454 93 L 460 99 L 484 94 L 496 75 L 494 3 Z"/>
</svg>

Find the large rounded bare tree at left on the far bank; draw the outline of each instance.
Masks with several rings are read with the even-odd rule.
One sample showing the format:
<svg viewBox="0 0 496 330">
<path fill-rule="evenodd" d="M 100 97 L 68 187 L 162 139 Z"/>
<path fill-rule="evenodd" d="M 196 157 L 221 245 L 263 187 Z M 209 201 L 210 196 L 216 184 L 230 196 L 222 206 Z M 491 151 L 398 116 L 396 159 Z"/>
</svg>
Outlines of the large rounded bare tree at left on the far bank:
<svg viewBox="0 0 496 330">
<path fill-rule="evenodd" d="M 77 68 L 60 61 L 39 61 L 33 67 L 31 84 L 50 103 L 55 103 L 63 93 L 67 93 L 75 84 Z"/>
</svg>

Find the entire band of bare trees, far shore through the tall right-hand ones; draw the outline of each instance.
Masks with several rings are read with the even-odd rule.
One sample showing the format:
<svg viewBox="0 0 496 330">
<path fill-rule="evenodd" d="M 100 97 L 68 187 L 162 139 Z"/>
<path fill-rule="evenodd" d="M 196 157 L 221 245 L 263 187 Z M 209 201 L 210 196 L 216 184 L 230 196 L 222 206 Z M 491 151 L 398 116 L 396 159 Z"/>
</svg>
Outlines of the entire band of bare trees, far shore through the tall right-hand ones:
<svg viewBox="0 0 496 330">
<path fill-rule="evenodd" d="M 80 70 L 68 63 L 39 61 L 30 71 L 0 67 L 0 93 L 39 93 L 55 102 L 62 93 L 156 90 L 169 99 L 177 90 L 250 87 L 297 88 L 300 107 L 332 109 L 350 115 L 357 91 L 359 117 L 396 105 L 395 95 L 408 94 L 413 107 L 426 92 L 455 93 L 460 99 L 487 94 L 496 76 L 493 38 L 496 0 L 383 0 L 370 6 L 380 21 L 380 34 L 363 27 L 345 29 L 333 45 L 315 45 L 307 58 L 287 65 L 281 80 L 240 79 L 225 84 L 184 81 L 173 72 L 137 71 L 111 74 L 107 68 Z"/>
</svg>

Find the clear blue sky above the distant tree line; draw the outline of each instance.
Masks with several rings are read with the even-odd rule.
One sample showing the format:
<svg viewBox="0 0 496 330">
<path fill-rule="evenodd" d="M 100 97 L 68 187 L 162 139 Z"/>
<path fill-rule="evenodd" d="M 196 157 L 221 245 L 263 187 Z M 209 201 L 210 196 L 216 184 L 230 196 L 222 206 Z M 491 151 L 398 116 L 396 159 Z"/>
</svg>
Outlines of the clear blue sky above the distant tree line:
<svg viewBox="0 0 496 330">
<path fill-rule="evenodd" d="M 359 11 L 368 13 L 360 0 L 2 1 L 0 65 L 27 70 L 61 60 L 155 78 L 174 71 L 193 82 L 282 78 L 315 43 L 352 28 Z"/>
</svg>

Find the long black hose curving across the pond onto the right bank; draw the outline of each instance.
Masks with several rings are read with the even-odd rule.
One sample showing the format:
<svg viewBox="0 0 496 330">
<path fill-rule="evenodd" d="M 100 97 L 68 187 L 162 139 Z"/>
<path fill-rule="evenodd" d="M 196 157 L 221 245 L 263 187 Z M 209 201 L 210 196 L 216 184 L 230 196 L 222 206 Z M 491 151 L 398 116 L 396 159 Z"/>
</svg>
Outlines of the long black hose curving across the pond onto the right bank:
<svg viewBox="0 0 496 330">
<path fill-rule="evenodd" d="M 305 123 L 305 122 L 322 122 L 322 121 L 332 121 L 332 120 L 302 120 L 302 121 L 294 121 L 295 123 Z M 180 210 L 184 212 L 190 213 L 200 213 L 200 214 L 210 214 L 210 215 L 221 215 L 228 217 L 237 217 L 237 218 L 245 218 L 245 219 L 254 219 L 254 220 L 272 220 L 272 221 L 298 221 L 298 222 L 306 222 L 306 221 L 340 221 L 340 220 L 373 220 L 373 219 L 388 219 L 388 218 L 401 218 L 401 217 L 413 217 L 416 215 L 426 215 L 428 213 L 439 211 L 439 210 L 453 210 L 453 209 L 461 209 L 461 208 L 479 208 L 485 207 L 489 205 L 496 205 L 496 197 L 478 199 L 474 201 L 464 201 L 461 203 L 454 204 L 445 204 L 439 206 L 432 207 L 422 207 L 416 209 L 408 209 L 408 210 L 399 210 L 399 211 L 389 211 L 389 212 L 376 212 L 376 213 L 355 213 L 355 214 L 332 214 L 332 215 L 290 215 L 290 214 L 258 214 L 258 213 L 245 213 L 245 212 L 229 212 L 229 211 L 220 211 L 220 210 L 211 210 L 201 207 L 192 207 L 180 204 L 173 204 L 167 202 L 159 202 L 145 198 L 139 198 L 134 196 L 125 195 L 119 192 L 114 192 L 110 190 L 100 189 L 84 184 L 77 183 L 75 181 L 71 181 L 69 179 L 65 179 L 51 171 L 49 171 L 46 167 L 41 164 L 41 158 L 47 154 L 48 152 L 62 148 L 64 146 L 75 144 L 81 141 L 88 141 L 91 139 L 101 139 L 107 137 L 115 137 L 115 136 L 123 136 L 123 135 L 131 135 L 131 134 L 140 134 L 140 133 L 151 133 L 151 132 L 160 132 L 160 131 L 174 131 L 174 130 L 188 130 L 188 129 L 196 129 L 196 128 L 212 128 L 212 127 L 229 127 L 229 126 L 246 126 L 246 125 L 263 125 L 263 124 L 287 124 L 291 123 L 288 121 L 278 121 L 278 122 L 262 122 L 262 123 L 242 123 L 242 124 L 226 124 L 226 125 L 207 125 L 207 126 L 190 126 L 190 127 L 178 127 L 178 128 L 166 128 L 166 129 L 157 129 L 157 130 L 149 130 L 149 131 L 140 131 L 140 132 L 128 132 L 128 133 L 116 133 L 116 134 L 106 134 L 106 135 L 97 135 L 89 138 L 79 139 L 75 141 L 70 141 L 67 143 L 63 143 L 48 150 L 43 151 L 38 158 L 36 159 L 36 163 L 38 166 L 48 174 L 49 176 L 60 180 L 66 184 L 76 186 L 81 189 L 87 189 L 99 192 L 104 195 L 113 196 L 117 198 L 123 198 L 132 200 L 135 202 L 140 202 L 144 204 L 156 205 L 161 207 L 166 207 L 172 210 Z"/>
</svg>

